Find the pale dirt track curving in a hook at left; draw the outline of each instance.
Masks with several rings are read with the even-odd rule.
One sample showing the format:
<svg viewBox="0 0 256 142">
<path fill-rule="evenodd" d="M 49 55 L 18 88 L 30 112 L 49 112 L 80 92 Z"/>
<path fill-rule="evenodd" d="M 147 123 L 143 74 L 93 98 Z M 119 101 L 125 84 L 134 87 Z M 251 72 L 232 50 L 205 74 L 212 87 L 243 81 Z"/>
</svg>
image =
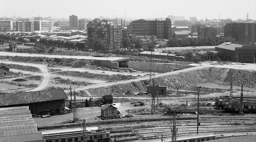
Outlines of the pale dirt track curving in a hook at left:
<svg viewBox="0 0 256 142">
<path fill-rule="evenodd" d="M 44 89 L 48 85 L 48 82 L 51 78 L 51 74 L 48 73 L 47 66 L 43 65 L 43 64 L 34 64 L 34 63 L 26 63 L 26 62 L 12 62 L 12 61 L 6 61 L 6 60 L 0 60 L 0 62 L 4 62 L 6 64 L 33 66 L 33 67 L 39 68 L 42 71 L 41 75 L 42 75 L 43 79 L 42 79 L 40 85 L 37 88 L 34 88 L 34 89 L 26 91 L 26 92 L 40 91 L 40 90 Z"/>
</svg>

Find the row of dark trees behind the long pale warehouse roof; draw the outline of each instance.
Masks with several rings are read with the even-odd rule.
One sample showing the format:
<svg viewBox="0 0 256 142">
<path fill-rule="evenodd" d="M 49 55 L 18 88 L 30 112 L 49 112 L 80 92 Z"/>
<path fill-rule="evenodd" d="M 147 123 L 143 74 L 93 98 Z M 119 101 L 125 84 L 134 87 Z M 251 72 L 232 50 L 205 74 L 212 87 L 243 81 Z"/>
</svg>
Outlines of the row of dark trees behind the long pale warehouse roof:
<svg viewBox="0 0 256 142">
<path fill-rule="evenodd" d="M 186 46 L 213 46 L 224 43 L 227 38 L 221 37 L 202 37 L 202 38 L 171 38 L 168 40 L 168 47 L 186 47 Z"/>
</svg>

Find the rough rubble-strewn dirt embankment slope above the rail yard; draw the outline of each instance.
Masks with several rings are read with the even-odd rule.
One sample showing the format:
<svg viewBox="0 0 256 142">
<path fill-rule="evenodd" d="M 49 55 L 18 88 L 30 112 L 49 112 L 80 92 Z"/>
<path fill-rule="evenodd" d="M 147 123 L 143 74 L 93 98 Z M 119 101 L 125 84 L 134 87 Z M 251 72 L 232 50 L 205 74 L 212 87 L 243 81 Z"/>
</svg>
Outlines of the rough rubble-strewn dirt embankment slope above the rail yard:
<svg viewBox="0 0 256 142">
<path fill-rule="evenodd" d="M 229 85 L 230 77 L 233 76 L 233 85 L 241 85 L 244 82 L 245 87 L 256 87 L 256 71 L 241 71 L 230 68 L 204 68 L 199 70 L 193 70 L 189 72 L 183 72 L 175 75 L 168 75 L 164 77 L 155 78 L 156 85 L 168 85 L 169 89 L 176 89 L 179 84 L 179 88 L 185 86 L 192 86 L 202 83 L 214 83 L 218 85 Z M 143 92 L 146 91 L 146 85 L 150 83 L 150 80 L 143 80 L 138 82 L 131 82 L 127 84 L 112 85 L 102 88 L 88 89 L 90 94 L 96 96 L 103 96 L 105 94 L 113 94 L 115 97 L 122 97 L 123 94 L 131 92 Z M 193 90 L 192 90 L 193 91 Z M 127 95 L 125 95 L 127 96 Z"/>
</svg>

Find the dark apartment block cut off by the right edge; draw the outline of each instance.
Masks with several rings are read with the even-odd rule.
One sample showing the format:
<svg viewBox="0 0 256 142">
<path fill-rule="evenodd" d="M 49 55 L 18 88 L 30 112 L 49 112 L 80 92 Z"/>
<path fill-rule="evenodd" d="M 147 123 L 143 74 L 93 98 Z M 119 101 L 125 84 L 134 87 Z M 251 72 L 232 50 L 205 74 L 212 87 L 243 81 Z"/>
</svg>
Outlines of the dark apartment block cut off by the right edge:
<svg viewBox="0 0 256 142">
<path fill-rule="evenodd" d="M 235 41 L 256 42 L 256 23 L 227 23 L 224 26 L 224 37 L 232 36 Z"/>
</svg>

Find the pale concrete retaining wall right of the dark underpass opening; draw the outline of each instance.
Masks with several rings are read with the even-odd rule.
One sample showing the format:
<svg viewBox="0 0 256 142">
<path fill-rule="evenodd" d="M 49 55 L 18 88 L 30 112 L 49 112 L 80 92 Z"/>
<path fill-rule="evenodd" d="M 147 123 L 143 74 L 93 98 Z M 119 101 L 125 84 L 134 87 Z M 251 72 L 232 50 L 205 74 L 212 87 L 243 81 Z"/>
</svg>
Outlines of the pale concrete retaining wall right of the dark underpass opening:
<svg viewBox="0 0 256 142">
<path fill-rule="evenodd" d="M 133 62 L 129 61 L 129 68 L 132 68 L 137 71 L 150 71 L 150 62 Z M 153 66 L 153 64 L 152 64 Z M 153 68 L 153 67 L 152 67 Z M 154 63 L 154 71 L 156 72 L 168 72 L 168 71 L 176 71 L 179 69 L 189 68 L 189 65 L 177 65 L 170 63 Z"/>
</svg>

